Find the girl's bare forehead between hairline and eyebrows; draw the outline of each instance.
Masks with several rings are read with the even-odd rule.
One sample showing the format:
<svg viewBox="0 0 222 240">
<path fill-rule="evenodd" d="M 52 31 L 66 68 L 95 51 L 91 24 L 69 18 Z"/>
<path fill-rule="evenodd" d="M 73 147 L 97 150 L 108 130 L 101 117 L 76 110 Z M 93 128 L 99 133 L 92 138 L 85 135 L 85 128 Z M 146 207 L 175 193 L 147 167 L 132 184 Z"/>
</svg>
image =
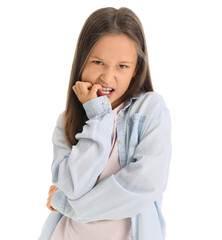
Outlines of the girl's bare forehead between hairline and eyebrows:
<svg viewBox="0 0 222 240">
<path fill-rule="evenodd" d="M 90 56 L 94 55 L 108 60 L 110 58 L 135 60 L 137 59 L 137 48 L 134 41 L 124 34 L 105 35 L 94 45 Z"/>
</svg>

